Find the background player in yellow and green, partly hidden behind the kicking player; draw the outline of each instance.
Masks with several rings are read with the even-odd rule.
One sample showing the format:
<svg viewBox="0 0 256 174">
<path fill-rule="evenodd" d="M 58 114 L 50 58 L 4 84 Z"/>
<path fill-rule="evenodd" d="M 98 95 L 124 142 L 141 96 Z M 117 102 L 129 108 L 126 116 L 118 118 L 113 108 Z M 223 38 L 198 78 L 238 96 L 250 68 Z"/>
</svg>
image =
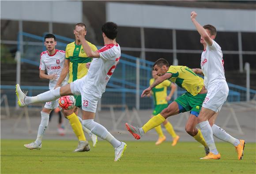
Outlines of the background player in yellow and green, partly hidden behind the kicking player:
<svg viewBox="0 0 256 174">
<path fill-rule="evenodd" d="M 154 69 L 152 70 L 152 77 L 153 78 L 149 82 L 150 85 L 153 84 L 154 81 L 158 78 L 157 72 Z M 168 96 L 167 87 L 171 88 L 171 91 Z M 173 93 L 176 89 L 177 86 L 174 83 L 171 83 L 171 81 L 169 80 L 165 80 L 152 88 L 151 93 L 149 93 L 150 96 L 152 95 L 154 98 L 154 111 L 152 113 L 151 118 L 153 116 L 158 115 L 160 112 L 162 112 L 163 109 L 166 109 L 168 107 L 168 101 L 172 98 Z M 163 125 L 166 127 L 167 132 L 173 138 L 172 146 L 176 145 L 180 137 L 173 130 L 172 124 L 169 121 L 165 120 L 163 122 Z M 161 124 L 155 127 L 154 129 L 158 133 L 158 141 L 156 141 L 155 145 L 160 145 L 163 141 L 166 140 L 166 136 L 162 132 Z"/>
</svg>

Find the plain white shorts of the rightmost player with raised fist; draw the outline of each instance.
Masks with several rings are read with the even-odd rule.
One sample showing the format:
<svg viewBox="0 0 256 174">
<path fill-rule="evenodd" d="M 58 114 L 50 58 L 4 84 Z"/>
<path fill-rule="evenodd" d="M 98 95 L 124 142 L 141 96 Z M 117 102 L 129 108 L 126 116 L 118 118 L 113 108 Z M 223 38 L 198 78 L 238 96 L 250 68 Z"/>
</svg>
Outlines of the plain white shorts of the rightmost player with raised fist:
<svg viewBox="0 0 256 174">
<path fill-rule="evenodd" d="M 207 88 L 207 95 L 202 107 L 219 112 L 229 94 L 229 87 L 226 82 L 216 82 Z"/>
</svg>

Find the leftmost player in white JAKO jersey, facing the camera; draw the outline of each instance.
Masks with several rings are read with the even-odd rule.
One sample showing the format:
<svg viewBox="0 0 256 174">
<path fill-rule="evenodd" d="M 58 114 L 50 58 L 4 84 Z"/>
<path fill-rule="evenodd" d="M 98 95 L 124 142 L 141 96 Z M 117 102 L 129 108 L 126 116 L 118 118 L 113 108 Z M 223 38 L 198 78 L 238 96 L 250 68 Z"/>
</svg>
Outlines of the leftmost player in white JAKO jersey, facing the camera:
<svg viewBox="0 0 256 174">
<path fill-rule="evenodd" d="M 45 35 L 44 44 L 47 51 L 43 51 L 41 53 L 39 76 L 41 79 L 49 79 L 49 90 L 53 90 L 64 66 L 65 51 L 55 49 L 57 43 L 56 38 L 53 34 Z M 47 71 L 47 74 L 45 74 L 45 70 Z M 68 84 L 68 77 L 66 77 L 65 80 L 61 83 L 61 86 L 65 84 Z M 58 106 L 58 98 L 54 101 L 49 101 L 45 103 L 45 106 L 41 111 L 41 123 L 38 127 L 37 139 L 30 144 L 25 144 L 24 146 L 26 148 L 41 149 L 42 138 L 49 123 L 49 114 L 53 109 Z"/>
</svg>

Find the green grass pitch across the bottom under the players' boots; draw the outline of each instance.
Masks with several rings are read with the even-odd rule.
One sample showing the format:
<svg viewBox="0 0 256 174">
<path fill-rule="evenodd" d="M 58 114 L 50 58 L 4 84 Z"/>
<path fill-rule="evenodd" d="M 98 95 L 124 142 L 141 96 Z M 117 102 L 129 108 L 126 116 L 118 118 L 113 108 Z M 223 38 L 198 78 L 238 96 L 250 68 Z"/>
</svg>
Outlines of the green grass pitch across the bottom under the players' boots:
<svg viewBox="0 0 256 174">
<path fill-rule="evenodd" d="M 28 150 L 31 140 L 1 140 L 1 174 L 255 174 L 256 144 L 245 145 L 243 160 L 237 159 L 233 145 L 216 143 L 221 159 L 200 160 L 203 147 L 197 142 L 126 141 L 128 148 L 119 162 L 106 141 L 90 152 L 72 152 L 77 141 L 44 140 L 41 150 Z M 90 142 L 91 145 L 91 142 Z"/>
</svg>

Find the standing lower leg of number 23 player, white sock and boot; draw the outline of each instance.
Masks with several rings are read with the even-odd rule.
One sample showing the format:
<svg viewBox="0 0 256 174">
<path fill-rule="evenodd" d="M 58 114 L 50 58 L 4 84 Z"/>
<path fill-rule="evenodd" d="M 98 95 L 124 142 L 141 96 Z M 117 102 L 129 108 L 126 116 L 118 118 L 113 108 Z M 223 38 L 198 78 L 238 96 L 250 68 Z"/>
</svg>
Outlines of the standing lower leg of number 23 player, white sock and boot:
<svg viewBox="0 0 256 174">
<path fill-rule="evenodd" d="M 108 141 L 115 149 L 115 159 L 114 161 L 119 161 L 127 145 L 124 142 L 118 141 L 116 138 L 113 137 L 109 131 L 103 127 L 101 124 L 94 121 L 95 113 L 88 112 L 83 110 L 83 126 L 87 127 L 93 134 L 97 135 L 98 137 L 102 138 L 103 140 Z"/>
</svg>

